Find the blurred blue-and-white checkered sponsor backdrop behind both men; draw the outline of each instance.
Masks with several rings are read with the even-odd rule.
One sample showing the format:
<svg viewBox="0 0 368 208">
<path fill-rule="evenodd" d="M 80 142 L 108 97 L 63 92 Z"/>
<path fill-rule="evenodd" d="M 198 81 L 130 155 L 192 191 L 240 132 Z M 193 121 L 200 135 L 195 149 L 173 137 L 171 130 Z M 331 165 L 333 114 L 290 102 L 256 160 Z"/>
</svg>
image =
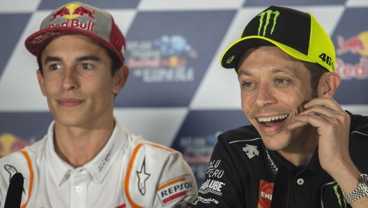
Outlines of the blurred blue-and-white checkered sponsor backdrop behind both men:
<svg viewBox="0 0 368 208">
<path fill-rule="evenodd" d="M 24 40 L 69 1 L 0 0 L 0 156 L 43 138 L 53 120 Z M 126 38 L 130 77 L 114 114 L 146 140 L 181 151 L 201 184 L 217 135 L 249 125 L 222 52 L 270 5 L 312 13 L 332 38 L 342 82 L 335 100 L 368 115 L 366 0 L 86 0 L 112 13 Z"/>
</svg>

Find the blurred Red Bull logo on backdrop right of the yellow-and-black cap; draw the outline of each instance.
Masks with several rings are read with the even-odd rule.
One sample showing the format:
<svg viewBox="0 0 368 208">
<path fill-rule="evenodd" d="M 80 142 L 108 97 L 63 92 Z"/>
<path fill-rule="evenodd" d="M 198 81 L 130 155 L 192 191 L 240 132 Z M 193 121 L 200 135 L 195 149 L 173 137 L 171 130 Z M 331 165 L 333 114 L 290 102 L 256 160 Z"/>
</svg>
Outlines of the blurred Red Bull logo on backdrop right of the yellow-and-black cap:
<svg viewBox="0 0 368 208">
<path fill-rule="evenodd" d="M 344 80 L 367 79 L 367 58 L 368 57 L 368 31 L 362 31 L 358 36 L 353 36 L 345 40 L 343 36 L 337 36 L 336 50 L 337 55 L 350 52 L 351 54 L 360 54 L 358 64 L 345 63 L 342 58 L 336 59 L 335 72 Z"/>
</svg>

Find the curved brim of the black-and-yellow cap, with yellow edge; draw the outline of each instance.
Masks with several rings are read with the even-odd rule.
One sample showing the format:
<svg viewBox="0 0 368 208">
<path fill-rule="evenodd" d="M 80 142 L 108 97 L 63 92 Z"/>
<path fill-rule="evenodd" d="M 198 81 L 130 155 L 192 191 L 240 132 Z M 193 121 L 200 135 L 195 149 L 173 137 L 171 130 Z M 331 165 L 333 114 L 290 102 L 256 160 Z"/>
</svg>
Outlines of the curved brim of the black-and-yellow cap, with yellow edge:
<svg viewBox="0 0 368 208">
<path fill-rule="evenodd" d="M 265 38 L 263 36 L 247 36 L 244 38 L 240 38 L 224 51 L 221 57 L 221 66 L 224 68 L 237 68 L 238 61 L 246 50 L 252 47 L 258 46 L 277 46 L 287 54 L 291 55 L 296 59 L 317 63 L 316 60 L 312 59 L 312 57 L 308 57 L 307 54 L 303 54 L 302 52 L 298 52 L 297 50 L 279 43 L 275 40 L 271 40 L 270 38 Z"/>
</svg>

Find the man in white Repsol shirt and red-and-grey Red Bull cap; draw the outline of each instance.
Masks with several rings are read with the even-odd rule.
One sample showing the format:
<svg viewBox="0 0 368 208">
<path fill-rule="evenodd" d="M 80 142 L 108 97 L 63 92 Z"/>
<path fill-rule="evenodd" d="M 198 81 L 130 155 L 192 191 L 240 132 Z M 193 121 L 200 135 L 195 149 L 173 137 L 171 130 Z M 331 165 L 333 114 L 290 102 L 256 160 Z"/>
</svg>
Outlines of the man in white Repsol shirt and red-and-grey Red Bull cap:
<svg viewBox="0 0 368 208">
<path fill-rule="evenodd" d="M 54 121 L 42 140 L 0 160 L 0 206 L 10 178 L 24 177 L 21 207 L 174 207 L 197 197 L 174 149 L 144 140 L 114 117 L 128 78 L 125 39 L 112 16 L 68 3 L 26 39 Z"/>
</svg>

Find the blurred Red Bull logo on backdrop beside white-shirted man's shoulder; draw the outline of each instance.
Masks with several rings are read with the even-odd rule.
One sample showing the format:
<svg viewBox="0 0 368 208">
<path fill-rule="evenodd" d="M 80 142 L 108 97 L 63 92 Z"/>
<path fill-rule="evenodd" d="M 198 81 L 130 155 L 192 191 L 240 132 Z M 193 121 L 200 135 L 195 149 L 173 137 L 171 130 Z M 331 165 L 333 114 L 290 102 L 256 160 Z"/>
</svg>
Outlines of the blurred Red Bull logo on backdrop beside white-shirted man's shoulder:
<svg viewBox="0 0 368 208">
<path fill-rule="evenodd" d="M 3 133 L 0 135 L 0 156 L 7 156 L 14 151 L 19 151 L 33 142 L 34 139 L 31 139 L 30 142 L 26 142 L 20 138 L 16 138 L 15 135 L 11 133 Z"/>
</svg>

